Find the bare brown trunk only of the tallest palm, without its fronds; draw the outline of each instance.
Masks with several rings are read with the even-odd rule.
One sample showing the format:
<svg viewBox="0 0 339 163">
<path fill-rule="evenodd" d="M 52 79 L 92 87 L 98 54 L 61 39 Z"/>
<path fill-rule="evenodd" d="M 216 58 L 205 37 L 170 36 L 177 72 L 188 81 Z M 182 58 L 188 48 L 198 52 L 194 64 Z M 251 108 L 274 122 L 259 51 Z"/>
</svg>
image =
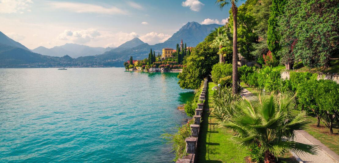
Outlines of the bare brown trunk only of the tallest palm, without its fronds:
<svg viewBox="0 0 339 163">
<path fill-rule="evenodd" d="M 233 94 L 238 93 L 238 36 L 237 36 L 237 15 L 238 7 L 233 3 L 232 4 L 232 13 L 233 13 Z"/>
</svg>

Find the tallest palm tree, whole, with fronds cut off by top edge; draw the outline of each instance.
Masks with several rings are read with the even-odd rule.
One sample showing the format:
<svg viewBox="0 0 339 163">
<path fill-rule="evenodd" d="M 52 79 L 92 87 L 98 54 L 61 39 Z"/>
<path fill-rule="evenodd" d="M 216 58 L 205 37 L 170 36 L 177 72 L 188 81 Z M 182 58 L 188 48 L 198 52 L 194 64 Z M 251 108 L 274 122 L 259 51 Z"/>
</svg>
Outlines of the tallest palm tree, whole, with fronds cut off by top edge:
<svg viewBox="0 0 339 163">
<path fill-rule="evenodd" d="M 232 13 L 233 13 L 233 94 L 238 93 L 238 36 L 237 36 L 237 16 L 238 16 L 238 0 L 217 0 L 216 3 L 220 3 L 220 9 L 222 9 L 226 4 L 232 4 Z"/>
</svg>

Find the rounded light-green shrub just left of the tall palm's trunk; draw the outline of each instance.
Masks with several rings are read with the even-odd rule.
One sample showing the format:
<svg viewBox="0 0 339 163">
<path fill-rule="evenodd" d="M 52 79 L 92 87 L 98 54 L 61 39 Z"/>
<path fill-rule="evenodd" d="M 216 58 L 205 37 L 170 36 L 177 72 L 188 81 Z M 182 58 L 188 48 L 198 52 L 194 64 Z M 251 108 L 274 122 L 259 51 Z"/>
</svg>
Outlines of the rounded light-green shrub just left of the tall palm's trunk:
<svg viewBox="0 0 339 163">
<path fill-rule="evenodd" d="M 212 67 L 212 80 L 215 84 L 219 84 L 219 80 L 222 77 L 232 76 L 232 64 L 218 63 Z"/>
</svg>

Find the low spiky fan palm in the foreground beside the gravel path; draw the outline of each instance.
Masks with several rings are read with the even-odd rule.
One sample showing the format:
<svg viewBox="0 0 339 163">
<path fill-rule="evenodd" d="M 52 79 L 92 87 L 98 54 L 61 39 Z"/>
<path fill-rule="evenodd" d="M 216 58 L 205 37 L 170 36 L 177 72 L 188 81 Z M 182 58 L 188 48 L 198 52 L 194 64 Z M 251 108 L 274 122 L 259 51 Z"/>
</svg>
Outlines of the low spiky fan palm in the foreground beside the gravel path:
<svg viewBox="0 0 339 163">
<path fill-rule="evenodd" d="M 259 146 L 258 152 L 265 163 L 276 162 L 275 156 L 290 150 L 316 154 L 316 146 L 293 141 L 294 131 L 304 129 L 309 123 L 303 117 L 305 113 L 292 114 L 295 105 L 295 93 L 266 92 L 238 101 L 234 113 L 221 124 L 237 132 L 234 140 L 241 146 Z"/>
</svg>

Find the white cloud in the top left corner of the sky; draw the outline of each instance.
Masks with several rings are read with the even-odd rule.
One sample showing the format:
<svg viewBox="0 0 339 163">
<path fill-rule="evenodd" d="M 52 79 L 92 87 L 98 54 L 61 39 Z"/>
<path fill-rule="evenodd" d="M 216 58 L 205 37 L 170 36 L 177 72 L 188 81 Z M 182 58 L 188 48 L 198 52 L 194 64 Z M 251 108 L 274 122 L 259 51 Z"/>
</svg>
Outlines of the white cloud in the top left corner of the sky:
<svg viewBox="0 0 339 163">
<path fill-rule="evenodd" d="M 31 0 L 0 0 L 0 13 L 23 13 L 22 10 L 29 7 Z"/>
</svg>

